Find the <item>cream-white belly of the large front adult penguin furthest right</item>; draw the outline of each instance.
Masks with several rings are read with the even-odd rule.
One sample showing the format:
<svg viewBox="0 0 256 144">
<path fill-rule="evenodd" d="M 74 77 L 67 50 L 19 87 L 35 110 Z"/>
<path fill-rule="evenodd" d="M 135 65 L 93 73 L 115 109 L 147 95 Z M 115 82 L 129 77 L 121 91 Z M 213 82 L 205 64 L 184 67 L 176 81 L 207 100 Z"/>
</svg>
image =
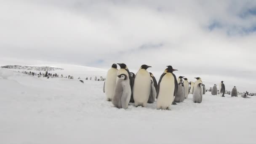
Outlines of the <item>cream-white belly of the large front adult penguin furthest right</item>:
<svg viewBox="0 0 256 144">
<path fill-rule="evenodd" d="M 173 82 L 173 83 L 171 83 Z M 174 94 L 174 77 L 171 73 L 166 73 L 159 83 L 159 93 L 157 97 L 157 109 L 171 109 Z"/>
</svg>

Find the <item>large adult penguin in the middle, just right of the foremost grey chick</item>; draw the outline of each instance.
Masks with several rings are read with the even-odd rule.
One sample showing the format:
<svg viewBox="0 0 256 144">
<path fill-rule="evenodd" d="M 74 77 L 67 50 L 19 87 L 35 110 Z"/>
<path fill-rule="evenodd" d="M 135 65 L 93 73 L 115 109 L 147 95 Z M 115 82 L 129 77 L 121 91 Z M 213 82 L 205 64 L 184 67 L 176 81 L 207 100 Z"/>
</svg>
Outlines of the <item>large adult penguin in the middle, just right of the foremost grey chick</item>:
<svg viewBox="0 0 256 144">
<path fill-rule="evenodd" d="M 139 71 L 136 73 L 136 77 L 133 84 L 133 99 L 135 107 L 147 106 L 147 101 L 151 92 L 151 80 L 150 74 L 147 69 L 151 66 L 146 64 L 141 65 Z"/>
</svg>

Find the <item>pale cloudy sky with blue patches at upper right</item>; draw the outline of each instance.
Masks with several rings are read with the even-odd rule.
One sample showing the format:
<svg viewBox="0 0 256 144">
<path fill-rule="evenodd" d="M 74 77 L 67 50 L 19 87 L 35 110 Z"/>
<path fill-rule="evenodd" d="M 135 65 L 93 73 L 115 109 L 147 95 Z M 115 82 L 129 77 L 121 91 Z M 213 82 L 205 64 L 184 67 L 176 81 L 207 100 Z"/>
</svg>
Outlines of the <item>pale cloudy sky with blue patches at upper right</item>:
<svg viewBox="0 0 256 144">
<path fill-rule="evenodd" d="M 256 81 L 255 0 L 0 0 L 2 64 L 125 63 Z M 254 81 L 254 82 L 255 82 Z"/>
</svg>

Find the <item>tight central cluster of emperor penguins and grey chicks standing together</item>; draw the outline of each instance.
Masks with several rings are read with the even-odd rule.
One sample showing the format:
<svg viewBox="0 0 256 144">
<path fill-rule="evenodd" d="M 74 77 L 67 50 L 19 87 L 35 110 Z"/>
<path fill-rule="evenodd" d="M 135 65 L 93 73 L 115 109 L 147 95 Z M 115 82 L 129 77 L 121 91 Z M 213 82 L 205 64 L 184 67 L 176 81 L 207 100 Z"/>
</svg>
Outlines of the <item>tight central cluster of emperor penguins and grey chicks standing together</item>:
<svg viewBox="0 0 256 144">
<path fill-rule="evenodd" d="M 150 67 L 141 65 L 135 75 L 126 64 L 112 64 L 103 86 L 106 100 L 112 101 L 114 107 L 123 109 L 128 108 L 129 102 L 135 107 L 147 107 L 147 104 L 156 101 L 157 109 L 171 110 L 172 104 L 183 102 L 189 93 L 193 93 L 193 101 L 202 102 L 206 90 L 200 77 L 195 77 L 195 83 L 189 83 L 184 76 L 177 79 L 173 73 L 177 69 L 167 66 L 157 83 L 152 72 L 148 71 Z"/>
</svg>

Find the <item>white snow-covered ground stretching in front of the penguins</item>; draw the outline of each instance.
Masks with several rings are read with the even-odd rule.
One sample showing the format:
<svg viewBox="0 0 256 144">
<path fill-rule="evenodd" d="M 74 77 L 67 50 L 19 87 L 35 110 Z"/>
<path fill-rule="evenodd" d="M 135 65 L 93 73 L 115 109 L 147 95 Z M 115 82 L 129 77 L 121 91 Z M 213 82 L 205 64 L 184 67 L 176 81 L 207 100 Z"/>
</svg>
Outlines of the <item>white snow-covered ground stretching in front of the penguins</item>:
<svg viewBox="0 0 256 144">
<path fill-rule="evenodd" d="M 62 68 L 62 67 L 60 67 Z M 64 71 L 65 72 L 65 68 Z M 56 72 L 60 75 L 60 73 Z M 68 71 L 75 77 L 101 69 Z M 254 144 L 256 97 L 192 95 L 171 111 L 117 109 L 103 81 L 32 77 L 0 69 L 0 144 Z"/>
</svg>

